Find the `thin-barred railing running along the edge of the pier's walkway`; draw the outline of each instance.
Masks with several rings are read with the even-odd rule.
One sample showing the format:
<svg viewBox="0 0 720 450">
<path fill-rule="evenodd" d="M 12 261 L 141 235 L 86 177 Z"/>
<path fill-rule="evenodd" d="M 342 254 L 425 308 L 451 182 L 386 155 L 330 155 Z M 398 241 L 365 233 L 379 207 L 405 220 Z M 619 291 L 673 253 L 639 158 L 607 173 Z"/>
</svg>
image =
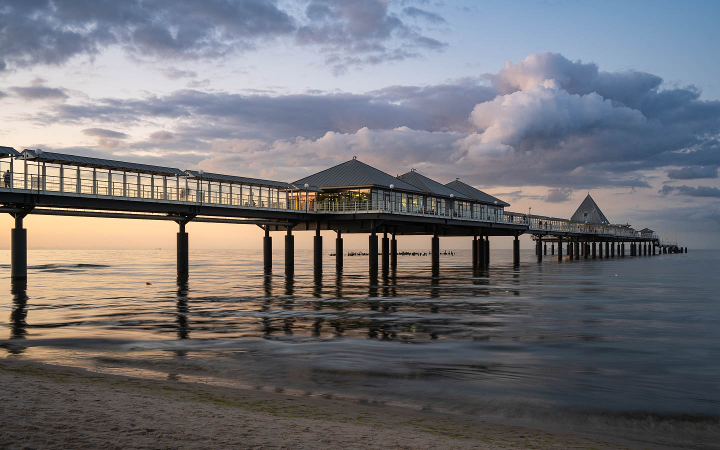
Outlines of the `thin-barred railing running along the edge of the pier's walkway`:
<svg viewBox="0 0 720 450">
<path fill-rule="evenodd" d="M 68 176 L 70 175 L 70 176 Z M 72 176 L 76 175 L 76 176 Z M 26 172 L 5 172 L 0 179 L 0 190 L 12 192 L 37 192 L 81 195 L 83 197 L 113 197 L 120 199 L 140 199 L 156 202 L 179 202 L 181 204 L 208 204 L 224 207 L 240 207 L 269 210 L 292 210 L 307 213 L 361 213 L 382 212 L 395 215 L 413 215 L 422 217 L 444 217 L 473 222 L 493 222 L 500 224 L 528 225 L 534 234 L 582 233 L 614 235 L 628 238 L 647 238 L 657 240 L 657 235 L 642 235 L 627 227 L 612 225 L 592 225 L 568 220 L 556 220 L 546 217 L 534 217 L 514 212 L 489 212 L 473 209 L 453 209 L 431 207 L 428 205 L 400 204 L 387 200 L 358 201 L 318 201 L 297 197 L 298 192 L 273 189 L 261 189 L 258 186 L 234 186 L 230 184 L 210 184 L 197 179 L 179 177 L 157 177 L 142 174 L 112 174 L 110 179 L 97 179 L 94 171 L 66 170 L 63 176 L 54 176 Z M 115 178 L 120 178 L 117 180 Z M 248 189 L 249 187 L 249 189 Z M 662 243 L 667 245 L 667 243 Z"/>
</svg>

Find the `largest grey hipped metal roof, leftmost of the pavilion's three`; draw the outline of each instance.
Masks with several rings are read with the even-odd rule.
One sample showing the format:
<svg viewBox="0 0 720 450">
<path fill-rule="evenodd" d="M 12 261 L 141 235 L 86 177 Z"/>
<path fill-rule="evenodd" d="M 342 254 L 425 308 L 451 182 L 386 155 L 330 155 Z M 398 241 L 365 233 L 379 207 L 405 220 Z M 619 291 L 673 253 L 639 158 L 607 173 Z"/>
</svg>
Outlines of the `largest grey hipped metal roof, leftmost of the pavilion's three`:
<svg viewBox="0 0 720 450">
<path fill-rule="evenodd" d="M 393 189 L 399 191 L 422 193 L 412 184 L 408 184 L 401 179 L 395 178 L 395 176 L 386 174 L 373 166 L 368 166 L 366 163 L 361 163 L 355 157 L 350 161 L 326 168 L 324 171 L 306 176 L 294 182 L 294 184 L 299 184 L 300 186 L 305 183 L 321 188 L 377 186 L 388 189 L 390 188 L 390 184 L 393 184 Z"/>
</svg>

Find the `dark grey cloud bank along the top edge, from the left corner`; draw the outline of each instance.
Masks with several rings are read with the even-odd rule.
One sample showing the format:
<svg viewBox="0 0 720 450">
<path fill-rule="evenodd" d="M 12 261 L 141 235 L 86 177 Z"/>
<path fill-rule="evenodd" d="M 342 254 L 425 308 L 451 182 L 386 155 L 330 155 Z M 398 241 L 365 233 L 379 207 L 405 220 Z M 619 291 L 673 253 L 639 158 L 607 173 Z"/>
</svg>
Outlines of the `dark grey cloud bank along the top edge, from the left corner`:
<svg viewBox="0 0 720 450">
<path fill-rule="evenodd" d="M 305 3 L 305 2 L 301 2 Z M 328 55 L 334 70 L 418 58 L 446 44 L 408 27 L 382 0 L 6 0 L 0 8 L 0 71 L 61 65 L 122 48 L 136 60 L 218 60 L 294 37 Z M 439 16 L 418 9 L 428 20 Z M 441 19 L 441 18 L 440 18 Z M 32 30 L 32 32 L 28 32 Z M 192 71 L 166 71 L 171 79 Z M 186 73 L 183 73 L 186 72 Z"/>
</svg>

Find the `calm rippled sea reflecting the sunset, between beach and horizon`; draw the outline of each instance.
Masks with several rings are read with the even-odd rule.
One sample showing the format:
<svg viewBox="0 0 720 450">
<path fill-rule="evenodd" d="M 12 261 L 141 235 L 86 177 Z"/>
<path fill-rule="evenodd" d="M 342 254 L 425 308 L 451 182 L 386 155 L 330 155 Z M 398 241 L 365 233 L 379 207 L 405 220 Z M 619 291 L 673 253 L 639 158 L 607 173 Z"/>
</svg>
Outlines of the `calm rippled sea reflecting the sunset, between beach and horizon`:
<svg viewBox="0 0 720 450">
<path fill-rule="evenodd" d="M 366 257 L 312 276 L 297 251 L 30 251 L 27 289 L 3 264 L 7 357 L 171 379 L 339 395 L 504 418 L 662 433 L 718 431 L 720 252 L 542 264 L 493 251 Z M 0 253 L 9 261 L 9 252 Z M 145 282 L 152 284 L 147 285 Z M 2 351 L 2 350 L 0 350 Z M 716 435 L 720 436 L 720 435 Z"/>
</svg>

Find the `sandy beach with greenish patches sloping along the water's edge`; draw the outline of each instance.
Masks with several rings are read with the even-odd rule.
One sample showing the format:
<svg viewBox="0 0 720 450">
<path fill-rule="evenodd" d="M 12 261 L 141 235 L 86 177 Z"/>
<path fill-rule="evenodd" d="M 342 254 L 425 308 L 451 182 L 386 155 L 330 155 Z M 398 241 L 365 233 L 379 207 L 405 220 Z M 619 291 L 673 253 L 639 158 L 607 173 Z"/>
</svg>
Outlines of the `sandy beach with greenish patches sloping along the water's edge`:
<svg viewBox="0 0 720 450">
<path fill-rule="evenodd" d="M 0 359 L 1 449 L 624 449 L 424 411 Z"/>
</svg>

